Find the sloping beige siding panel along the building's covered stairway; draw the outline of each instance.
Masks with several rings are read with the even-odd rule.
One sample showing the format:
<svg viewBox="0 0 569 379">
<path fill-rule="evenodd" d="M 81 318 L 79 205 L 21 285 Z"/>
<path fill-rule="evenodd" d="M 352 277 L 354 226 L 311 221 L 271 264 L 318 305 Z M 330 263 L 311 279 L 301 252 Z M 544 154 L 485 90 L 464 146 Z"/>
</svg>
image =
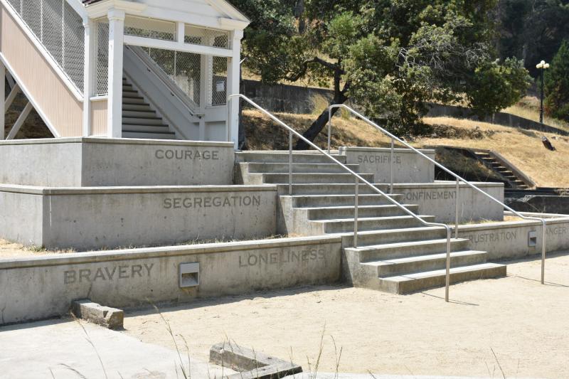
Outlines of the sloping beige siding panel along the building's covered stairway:
<svg viewBox="0 0 569 379">
<path fill-rule="evenodd" d="M 83 102 L 77 100 L 1 4 L 0 12 L 0 51 L 60 137 L 80 137 Z"/>
</svg>

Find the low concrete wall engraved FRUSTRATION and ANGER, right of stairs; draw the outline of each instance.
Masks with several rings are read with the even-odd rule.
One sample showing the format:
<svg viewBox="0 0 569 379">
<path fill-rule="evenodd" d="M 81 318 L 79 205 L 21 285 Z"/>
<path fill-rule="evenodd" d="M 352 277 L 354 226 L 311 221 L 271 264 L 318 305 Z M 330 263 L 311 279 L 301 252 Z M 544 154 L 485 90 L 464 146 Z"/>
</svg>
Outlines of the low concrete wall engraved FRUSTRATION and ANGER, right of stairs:
<svg viewBox="0 0 569 379">
<path fill-rule="evenodd" d="M 541 254 L 542 235 L 541 222 L 533 220 L 459 226 L 459 237 L 470 240 L 470 249 L 488 252 L 489 260 L 512 260 Z M 568 249 L 569 221 L 551 221 L 547 226 L 546 250 Z"/>
</svg>

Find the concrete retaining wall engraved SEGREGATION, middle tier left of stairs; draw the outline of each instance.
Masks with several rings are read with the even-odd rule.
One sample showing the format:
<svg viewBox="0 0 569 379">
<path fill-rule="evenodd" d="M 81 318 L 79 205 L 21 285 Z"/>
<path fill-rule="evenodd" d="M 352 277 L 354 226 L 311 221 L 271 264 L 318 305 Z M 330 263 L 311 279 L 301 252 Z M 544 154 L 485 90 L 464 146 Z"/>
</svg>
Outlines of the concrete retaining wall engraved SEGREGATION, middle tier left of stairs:
<svg viewBox="0 0 569 379">
<path fill-rule="evenodd" d="M 276 186 L 0 185 L 0 236 L 76 250 L 244 239 L 276 232 Z"/>
</svg>

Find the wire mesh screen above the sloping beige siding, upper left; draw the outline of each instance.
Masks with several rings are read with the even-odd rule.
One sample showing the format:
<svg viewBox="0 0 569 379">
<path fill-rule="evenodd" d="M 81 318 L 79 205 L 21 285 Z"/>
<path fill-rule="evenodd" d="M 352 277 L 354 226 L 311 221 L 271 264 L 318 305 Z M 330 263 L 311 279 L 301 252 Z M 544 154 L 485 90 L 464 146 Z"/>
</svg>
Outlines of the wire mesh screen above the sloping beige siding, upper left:
<svg viewBox="0 0 569 379">
<path fill-rule="evenodd" d="M 82 18 L 65 0 L 9 0 L 9 3 L 65 75 L 83 92 Z"/>
</svg>

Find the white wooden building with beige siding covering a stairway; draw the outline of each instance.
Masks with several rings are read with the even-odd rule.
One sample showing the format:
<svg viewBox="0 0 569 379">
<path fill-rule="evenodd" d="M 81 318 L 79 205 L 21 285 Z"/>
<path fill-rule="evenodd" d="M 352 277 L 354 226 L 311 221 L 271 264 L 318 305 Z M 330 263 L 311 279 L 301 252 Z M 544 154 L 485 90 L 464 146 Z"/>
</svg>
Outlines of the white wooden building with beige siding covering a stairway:
<svg viewBox="0 0 569 379">
<path fill-rule="evenodd" d="M 239 92 L 249 21 L 227 1 L 0 4 L 0 106 L 20 91 L 29 101 L 8 139 L 35 109 L 55 137 L 237 143 L 238 106 L 227 99 Z"/>
</svg>

